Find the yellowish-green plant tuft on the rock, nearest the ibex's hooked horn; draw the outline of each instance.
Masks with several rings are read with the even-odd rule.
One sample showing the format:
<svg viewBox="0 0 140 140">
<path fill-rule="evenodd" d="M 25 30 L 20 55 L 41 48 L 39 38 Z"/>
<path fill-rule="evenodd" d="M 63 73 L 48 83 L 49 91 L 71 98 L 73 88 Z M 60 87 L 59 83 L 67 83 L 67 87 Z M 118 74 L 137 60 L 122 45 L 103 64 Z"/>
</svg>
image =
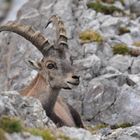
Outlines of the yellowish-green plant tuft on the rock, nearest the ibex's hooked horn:
<svg viewBox="0 0 140 140">
<path fill-rule="evenodd" d="M 86 30 L 81 32 L 79 38 L 83 43 L 103 41 L 103 37 L 93 30 Z"/>
</svg>

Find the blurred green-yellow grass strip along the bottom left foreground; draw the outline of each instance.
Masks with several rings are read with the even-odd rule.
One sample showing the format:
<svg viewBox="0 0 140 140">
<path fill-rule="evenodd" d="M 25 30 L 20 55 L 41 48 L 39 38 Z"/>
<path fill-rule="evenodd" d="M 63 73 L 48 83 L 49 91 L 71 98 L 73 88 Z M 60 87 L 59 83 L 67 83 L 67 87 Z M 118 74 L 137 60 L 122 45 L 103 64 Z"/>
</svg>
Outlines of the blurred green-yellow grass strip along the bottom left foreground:
<svg viewBox="0 0 140 140">
<path fill-rule="evenodd" d="M 69 137 L 62 133 L 53 134 L 51 130 L 46 128 L 27 128 L 16 117 L 2 116 L 0 118 L 0 140 L 6 140 L 5 132 L 7 133 L 20 133 L 29 132 L 34 136 L 40 136 L 43 140 L 70 140 Z"/>
</svg>

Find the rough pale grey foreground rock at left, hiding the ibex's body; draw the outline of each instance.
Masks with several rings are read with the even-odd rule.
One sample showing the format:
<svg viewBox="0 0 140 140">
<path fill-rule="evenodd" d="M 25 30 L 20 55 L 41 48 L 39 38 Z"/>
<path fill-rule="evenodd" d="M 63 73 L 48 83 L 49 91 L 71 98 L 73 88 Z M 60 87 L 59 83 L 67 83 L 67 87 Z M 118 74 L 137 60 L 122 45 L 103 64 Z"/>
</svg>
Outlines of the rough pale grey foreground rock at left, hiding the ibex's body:
<svg viewBox="0 0 140 140">
<path fill-rule="evenodd" d="M 46 117 L 39 100 L 21 97 L 15 91 L 0 93 L 0 116 L 2 115 L 19 117 L 28 127 L 55 128 L 54 123 Z"/>
</svg>

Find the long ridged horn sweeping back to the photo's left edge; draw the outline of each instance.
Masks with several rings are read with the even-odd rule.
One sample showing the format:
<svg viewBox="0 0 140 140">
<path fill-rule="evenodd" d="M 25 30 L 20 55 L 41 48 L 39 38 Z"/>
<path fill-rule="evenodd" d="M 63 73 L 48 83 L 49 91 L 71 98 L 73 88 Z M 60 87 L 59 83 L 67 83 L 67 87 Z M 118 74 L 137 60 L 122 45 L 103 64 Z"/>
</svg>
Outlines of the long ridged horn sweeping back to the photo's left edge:
<svg viewBox="0 0 140 140">
<path fill-rule="evenodd" d="M 9 22 L 6 25 L 0 26 L 1 31 L 14 32 L 28 41 L 30 41 L 43 55 L 51 47 L 48 39 L 39 31 L 35 31 L 31 26 L 23 25 L 21 23 Z"/>
</svg>

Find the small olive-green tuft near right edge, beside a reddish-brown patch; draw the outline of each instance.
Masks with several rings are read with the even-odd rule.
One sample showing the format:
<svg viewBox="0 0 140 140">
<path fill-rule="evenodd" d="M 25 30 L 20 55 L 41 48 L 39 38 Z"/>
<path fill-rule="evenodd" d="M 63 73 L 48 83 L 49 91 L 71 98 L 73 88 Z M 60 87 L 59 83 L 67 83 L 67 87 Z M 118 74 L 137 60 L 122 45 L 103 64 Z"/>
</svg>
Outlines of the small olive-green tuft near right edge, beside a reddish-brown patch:
<svg viewBox="0 0 140 140">
<path fill-rule="evenodd" d="M 116 44 L 113 47 L 113 53 L 114 54 L 125 55 L 125 54 L 129 54 L 129 49 L 128 49 L 128 47 L 125 44 Z"/>
</svg>

